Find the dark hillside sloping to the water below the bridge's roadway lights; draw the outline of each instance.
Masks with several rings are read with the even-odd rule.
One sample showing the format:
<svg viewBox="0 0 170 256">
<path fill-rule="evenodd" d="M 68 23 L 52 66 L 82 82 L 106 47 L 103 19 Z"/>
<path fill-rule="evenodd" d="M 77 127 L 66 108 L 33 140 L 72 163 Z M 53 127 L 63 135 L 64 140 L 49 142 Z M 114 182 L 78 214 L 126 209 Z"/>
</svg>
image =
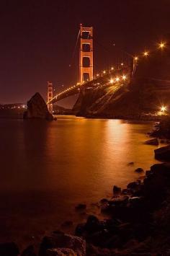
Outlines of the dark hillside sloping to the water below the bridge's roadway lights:
<svg viewBox="0 0 170 256">
<path fill-rule="evenodd" d="M 170 53 L 151 53 L 142 58 L 129 84 L 86 89 L 73 107 L 77 115 L 106 118 L 153 116 L 161 105 L 169 108 Z M 101 81 L 102 84 L 102 81 Z M 169 109 L 167 109 L 169 111 Z"/>
</svg>

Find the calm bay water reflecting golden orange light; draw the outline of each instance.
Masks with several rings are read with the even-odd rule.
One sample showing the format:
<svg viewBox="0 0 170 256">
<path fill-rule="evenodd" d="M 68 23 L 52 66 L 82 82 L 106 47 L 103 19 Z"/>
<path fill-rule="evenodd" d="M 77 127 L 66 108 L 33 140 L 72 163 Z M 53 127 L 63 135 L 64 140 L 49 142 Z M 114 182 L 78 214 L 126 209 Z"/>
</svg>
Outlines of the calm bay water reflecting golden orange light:
<svg viewBox="0 0 170 256">
<path fill-rule="evenodd" d="M 58 117 L 56 122 L 0 120 L 0 242 L 38 241 L 63 221 L 86 219 L 77 203 L 96 203 L 156 163 L 143 144 L 153 123 Z M 128 166 L 135 162 L 134 166 Z M 101 216 L 102 217 L 102 216 Z"/>
</svg>

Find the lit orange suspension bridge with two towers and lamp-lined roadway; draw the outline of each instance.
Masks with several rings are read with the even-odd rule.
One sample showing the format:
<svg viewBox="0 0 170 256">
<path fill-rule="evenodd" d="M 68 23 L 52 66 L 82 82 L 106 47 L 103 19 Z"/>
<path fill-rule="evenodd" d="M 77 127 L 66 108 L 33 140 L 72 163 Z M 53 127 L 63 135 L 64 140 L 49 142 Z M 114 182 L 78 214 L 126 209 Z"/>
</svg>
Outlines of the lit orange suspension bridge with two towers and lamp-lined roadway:
<svg viewBox="0 0 170 256">
<path fill-rule="evenodd" d="M 158 43 L 157 47 L 153 50 L 144 50 L 143 53 L 135 56 L 128 53 L 130 58 L 132 58 L 131 66 L 128 66 L 125 63 L 120 63 L 117 68 L 111 66 L 109 69 L 105 69 L 94 75 L 93 27 L 83 27 L 80 25 L 78 37 L 80 37 L 79 82 L 53 95 L 53 83 L 48 81 L 47 105 L 50 112 L 53 112 L 53 104 L 55 102 L 63 100 L 71 95 L 78 94 L 84 89 L 111 87 L 113 91 L 116 91 L 120 87 L 128 85 L 130 79 L 132 79 L 135 74 L 140 59 L 149 58 L 153 51 L 164 50 L 167 46 L 166 42 L 161 42 Z"/>
</svg>

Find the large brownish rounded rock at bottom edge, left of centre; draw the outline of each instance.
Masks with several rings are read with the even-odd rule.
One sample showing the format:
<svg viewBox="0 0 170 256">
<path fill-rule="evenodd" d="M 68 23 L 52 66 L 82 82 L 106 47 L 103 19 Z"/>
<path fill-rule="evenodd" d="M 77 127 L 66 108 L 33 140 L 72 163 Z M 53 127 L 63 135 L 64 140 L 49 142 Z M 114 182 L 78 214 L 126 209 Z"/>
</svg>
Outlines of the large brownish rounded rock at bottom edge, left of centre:
<svg viewBox="0 0 170 256">
<path fill-rule="evenodd" d="M 86 242 L 84 239 L 64 234 L 61 231 L 55 231 L 42 239 L 39 256 L 46 256 L 48 249 L 56 248 L 68 248 L 76 252 L 77 255 L 86 255 Z"/>
</svg>

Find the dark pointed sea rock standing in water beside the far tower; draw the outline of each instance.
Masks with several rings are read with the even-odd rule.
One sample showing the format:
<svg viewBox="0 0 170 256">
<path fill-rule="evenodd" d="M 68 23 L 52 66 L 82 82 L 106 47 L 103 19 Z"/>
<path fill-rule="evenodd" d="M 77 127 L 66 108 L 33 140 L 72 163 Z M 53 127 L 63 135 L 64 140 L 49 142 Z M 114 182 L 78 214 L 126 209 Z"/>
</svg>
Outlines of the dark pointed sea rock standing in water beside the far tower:
<svg viewBox="0 0 170 256">
<path fill-rule="evenodd" d="M 24 112 L 23 118 L 53 120 L 53 115 L 48 111 L 48 106 L 40 93 L 36 92 L 27 102 L 27 111 Z"/>
</svg>

